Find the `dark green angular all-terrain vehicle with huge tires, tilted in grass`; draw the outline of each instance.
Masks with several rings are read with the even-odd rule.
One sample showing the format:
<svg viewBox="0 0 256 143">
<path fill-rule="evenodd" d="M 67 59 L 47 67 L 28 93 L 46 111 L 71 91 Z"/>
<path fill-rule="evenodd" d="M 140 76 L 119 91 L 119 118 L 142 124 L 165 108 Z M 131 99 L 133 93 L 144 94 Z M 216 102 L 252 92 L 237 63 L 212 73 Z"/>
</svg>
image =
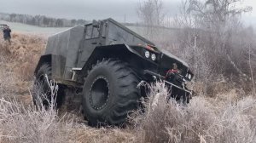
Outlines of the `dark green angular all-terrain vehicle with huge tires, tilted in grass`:
<svg viewBox="0 0 256 143">
<path fill-rule="evenodd" d="M 147 88 L 137 87 L 142 81 L 161 79 L 172 89 L 172 98 L 189 102 L 185 81 L 193 77 L 183 60 L 112 19 L 94 20 L 49 37 L 35 70 L 37 81 L 45 83 L 45 74 L 64 89 L 73 89 L 69 94 L 81 96 L 91 125 L 124 123 L 127 112 L 146 96 Z M 74 104 L 80 104 L 77 101 Z"/>
</svg>

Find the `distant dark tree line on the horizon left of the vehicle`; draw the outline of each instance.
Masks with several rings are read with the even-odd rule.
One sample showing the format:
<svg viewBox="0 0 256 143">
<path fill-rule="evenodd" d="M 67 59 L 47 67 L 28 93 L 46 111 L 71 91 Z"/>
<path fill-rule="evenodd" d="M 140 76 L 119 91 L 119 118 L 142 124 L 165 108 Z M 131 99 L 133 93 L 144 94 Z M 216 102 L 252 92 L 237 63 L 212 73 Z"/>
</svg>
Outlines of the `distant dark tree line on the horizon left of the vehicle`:
<svg viewBox="0 0 256 143">
<path fill-rule="evenodd" d="M 60 18 L 50 18 L 44 15 L 29 15 L 29 14 L 3 14 L 0 13 L 0 20 L 9 22 L 19 22 L 32 26 L 42 27 L 70 27 L 77 25 L 84 25 L 88 23 L 87 20 L 67 20 Z"/>
</svg>

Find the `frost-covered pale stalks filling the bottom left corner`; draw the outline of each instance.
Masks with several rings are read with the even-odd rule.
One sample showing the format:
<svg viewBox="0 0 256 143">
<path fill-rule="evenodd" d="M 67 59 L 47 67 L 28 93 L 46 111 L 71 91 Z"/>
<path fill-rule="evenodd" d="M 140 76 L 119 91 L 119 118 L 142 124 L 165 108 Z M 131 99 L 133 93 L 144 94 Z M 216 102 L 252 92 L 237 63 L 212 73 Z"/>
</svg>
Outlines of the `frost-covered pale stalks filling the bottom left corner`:
<svg viewBox="0 0 256 143">
<path fill-rule="evenodd" d="M 38 100 L 35 106 L 27 107 L 17 100 L 0 100 L 1 142 L 67 142 L 73 120 L 63 121 L 57 116 L 57 86 L 49 85 L 51 100 L 47 109 L 42 100 Z"/>
</svg>

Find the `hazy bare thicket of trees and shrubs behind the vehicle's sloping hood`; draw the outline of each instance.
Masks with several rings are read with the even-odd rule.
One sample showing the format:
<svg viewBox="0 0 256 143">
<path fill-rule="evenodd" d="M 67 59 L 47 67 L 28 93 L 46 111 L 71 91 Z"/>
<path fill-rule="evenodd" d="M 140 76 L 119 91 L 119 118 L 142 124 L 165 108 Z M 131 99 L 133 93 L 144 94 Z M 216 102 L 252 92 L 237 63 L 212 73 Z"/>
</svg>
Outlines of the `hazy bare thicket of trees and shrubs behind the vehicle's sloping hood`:
<svg viewBox="0 0 256 143">
<path fill-rule="evenodd" d="M 241 14 L 252 8 L 239 7 L 242 2 L 184 0 L 173 24 L 169 24 L 174 28 L 161 27 L 166 15 L 160 0 L 142 1 L 137 12 L 146 26 L 145 35 L 188 62 L 196 81 L 203 83 L 204 94 L 215 94 L 212 81 L 218 82 L 222 77 L 228 79 L 230 86 L 237 83 L 236 88 L 247 91 L 255 89 L 256 43 L 252 26 L 245 27 L 241 21 Z"/>
</svg>

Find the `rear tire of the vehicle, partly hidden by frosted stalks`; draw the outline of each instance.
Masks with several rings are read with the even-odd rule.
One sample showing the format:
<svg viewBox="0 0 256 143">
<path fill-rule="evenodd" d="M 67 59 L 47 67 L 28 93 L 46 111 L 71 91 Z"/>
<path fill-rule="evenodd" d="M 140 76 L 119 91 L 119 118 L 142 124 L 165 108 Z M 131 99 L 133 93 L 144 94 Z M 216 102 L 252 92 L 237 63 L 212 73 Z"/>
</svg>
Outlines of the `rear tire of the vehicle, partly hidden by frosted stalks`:
<svg viewBox="0 0 256 143">
<path fill-rule="evenodd" d="M 45 100 L 43 97 L 43 94 L 45 94 L 45 96 L 48 98 L 50 97 L 50 88 L 49 84 L 47 83 L 47 80 L 51 79 L 51 67 L 49 66 L 49 64 L 44 64 L 40 66 L 38 72 L 35 73 L 35 77 L 36 79 L 33 83 L 32 100 L 34 103 L 36 103 L 38 100 L 42 100 L 44 106 L 49 106 L 48 101 Z"/>
</svg>

